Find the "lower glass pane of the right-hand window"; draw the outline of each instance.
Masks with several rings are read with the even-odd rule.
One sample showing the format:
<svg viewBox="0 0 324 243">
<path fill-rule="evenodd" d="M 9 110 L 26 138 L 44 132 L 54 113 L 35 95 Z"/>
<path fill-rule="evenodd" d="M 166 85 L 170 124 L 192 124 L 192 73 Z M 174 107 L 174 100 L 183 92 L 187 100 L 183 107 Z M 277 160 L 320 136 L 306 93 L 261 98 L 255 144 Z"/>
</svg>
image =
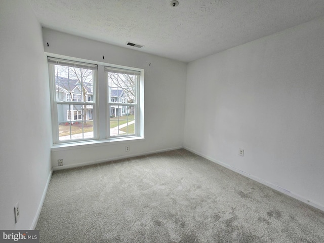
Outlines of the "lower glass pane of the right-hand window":
<svg viewBox="0 0 324 243">
<path fill-rule="evenodd" d="M 110 105 L 110 136 L 135 134 L 135 106 Z"/>
</svg>

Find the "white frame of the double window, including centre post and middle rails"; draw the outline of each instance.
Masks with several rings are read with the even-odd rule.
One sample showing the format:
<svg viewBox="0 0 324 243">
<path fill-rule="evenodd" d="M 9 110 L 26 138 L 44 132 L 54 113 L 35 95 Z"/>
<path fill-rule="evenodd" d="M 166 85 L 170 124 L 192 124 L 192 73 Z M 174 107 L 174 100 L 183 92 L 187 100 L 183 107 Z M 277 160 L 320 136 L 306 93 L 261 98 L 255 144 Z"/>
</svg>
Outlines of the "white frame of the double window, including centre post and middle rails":
<svg viewBox="0 0 324 243">
<path fill-rule="evenodd" d="M 92 105 L 92 118 L 93 118 L 93 125 L 94 125 L 94 138 L 93 139 L 82 139 L 82 140 L 66 140 L 66 141 L 59 141 L 58 136 L 58 117 L 57 117 L 57 103 L 53 102 L 56 99 L 56 92 L 55 92 L 55 84 L 54 82 L 50 82 L 51 86 L 51 107 L 52 107 L 52 128 L 53 128 L 53 145 L 52 151 L 59 150 L 64 147 L 74 147 L 74 146 L 95 146 L 95 144 L 100 143 L 111 143 L 111 142 L 119 142 L 119 141 L 128 141 L 128 140 L 137 140 L 137 139 L 144 139 L 144 69 L 139 68 L 131 68 L 113 64 L 107 64 L 102 62 L 95 62 L 89 61 L 85 59 L 77 59 L 71 57 L 64 57 L 66 60 L 61 59 L 62 56 L 54 55 L 52 59 L 59 59 L 62 60 L 64 63 L 83 63 L 85 66 L 87 65 L 97 65 L 98 69 L 94 72 L 93 77 L 93 94 L 91 101 L 85 101 L 88 105 Z M 49 57 L 50 58 L 50 57 Z M 53 62 L 52 62 L 53 63 Z M 63 65 L 63 64 L 61 64 Z M 107 66 L 108 65 L 108 66 Z M 105 67 L 109 68 L 119 68 L 119 69 L 126 69 L 126 70 L 133 70 L 138 71 L 140 73 L 140 79 L 137 84 L 137 108 L 136 108 L 136 128 L 135 128 L 135 135 L 125 135 L 125 136 L 109 136 L 109 124 L 110 124 L 110 106 L 109 104 L 113 105 L 122 105 L 121 107 L 125 107 L 125 111 L 128 112 L 128 103 L 123 103 L 123 100 L 120 102 L 112 102 L 108 100 L 107 95 L 107 73 L 105 72 Z M 54 65 L 51 68 L 49 63 L 49 74 L 50 76 L 54 76 Z M 50 78 L 51 79 L 51 78 Z M 51 80 L 50 80 L 51 81 Z M 116 100 L 116 98 L 115 98 Z M 64 102 L 64 101 L 63 101 Z M 127 102 L 127 101 L 126 101 Z M 70 103 L 66 101 L 66 103 Z M 73 102 L 73 104 L 79 104 L 83 102 Z M 60 103 L 61 104 L 61 103 Z M 99 107 L 99 104 L 102 104 Z M 105 106 L 105 107 L 104 107 Z M 71 111 L 71 118 L 73 113 Z M 72 121 L 72 120 L 71 120 Z M 99 123 L 100 121 L 100 123 Z M 100 126 L 99 126 L 100 124 Z"/>
</svg>

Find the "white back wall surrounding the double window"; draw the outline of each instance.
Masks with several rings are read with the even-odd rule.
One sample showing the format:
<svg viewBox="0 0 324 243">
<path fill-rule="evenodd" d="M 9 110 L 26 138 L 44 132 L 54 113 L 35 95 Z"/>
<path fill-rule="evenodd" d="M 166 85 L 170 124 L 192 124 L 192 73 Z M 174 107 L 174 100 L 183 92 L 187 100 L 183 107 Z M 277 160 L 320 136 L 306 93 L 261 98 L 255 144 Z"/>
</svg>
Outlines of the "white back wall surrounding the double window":
<svg viewBox="0 0 324 243">
<path fill-rule="evenodd" d="M 59 169 L 183 146 L 186 63 L 48 28 L 43 29 L 43 38 L 47 53 L 142 68 L 145 74 L 145 139 L 55 149 L 52 151 L 53 167 L 57 167 L 60 158 L 64 166 Z M 130 152 L 125 152 L 125 145 L 130 145 Z"/>
</svg>

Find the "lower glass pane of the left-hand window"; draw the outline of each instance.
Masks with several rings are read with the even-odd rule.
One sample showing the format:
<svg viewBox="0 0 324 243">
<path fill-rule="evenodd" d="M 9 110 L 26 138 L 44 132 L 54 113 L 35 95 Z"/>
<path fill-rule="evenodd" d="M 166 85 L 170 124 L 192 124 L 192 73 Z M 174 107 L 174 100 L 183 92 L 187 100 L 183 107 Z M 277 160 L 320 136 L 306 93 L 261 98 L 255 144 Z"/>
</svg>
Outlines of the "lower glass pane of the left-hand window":
<svg viewBox="0 0 324 243">
<path fill-rule="evenodd" d="M 59 141 L 94 138 L 93 105 L 58 104 L 57 111 Z"/>
</svg>

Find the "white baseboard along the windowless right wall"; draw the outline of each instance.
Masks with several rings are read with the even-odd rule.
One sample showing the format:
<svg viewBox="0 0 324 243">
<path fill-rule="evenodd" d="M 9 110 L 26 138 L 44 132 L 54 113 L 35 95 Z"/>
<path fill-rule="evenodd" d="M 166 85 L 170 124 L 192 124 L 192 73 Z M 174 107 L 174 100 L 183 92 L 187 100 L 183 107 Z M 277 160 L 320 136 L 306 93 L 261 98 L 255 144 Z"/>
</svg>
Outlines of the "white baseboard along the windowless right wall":
<svg viewBox="0 0 324 243">
<path fill-rule="evenodd" d="M 225 163 L 222 163 L 222 162 L 220 162 L 220 161 L 218 161 L 218 160 L 216 160 L 216 159 L 214 159 L 214 158 L 212 158 L 210 156 L 207 156 L 205 154 L 197 152 L 197 151 L 195 151 L 195 150 L 193 150 L 191 148 L 188 148 L 186 146 L 184 146 L 183 148 L 190 151 L 190 152 L 192 152 L 192 153 L 195 153 L 195 154 L 197 154 L 197 155 L 199 155 L 201 157 L 207 158 L 208 160 L 211 160 L 212 162 L 214 162 L 214 163 L 216 163 L 216 164 L 218 164 L 220 166 L 223 166 L 223 167 L 225 167 L 225 168 L 227 168 L 227 169 L 229 169 L 231 171 L 234 171 L 234 172 L 236 172 L 238 174 L 241 174 L 242 176 L 248 177 L 248 178 L 250 178 L 250 179 L 252 179 L 254 181 L 257 181 L 257 182 L 259 182 L 259 183 L 261 183 L 263 185 L 266 185 L 266 186 L 268 186 L 268 187 L 270 187 L 270 188 L 272 188 L 274 190 L 277 190 L 277 191 L 282 192 L 282 193 L 284 193 L 284 194 L 286 194 L 288 196 L 291 196 L 291 197 L 293 197 L 293 198 L 295 198 L 297 200 L 300 200 L 303 203 L 308 204 L 308 205 L 310 205 L 310 206 L 312 206 L 312 207 L 314 207 L 316 209 L 324 211 L 324 206 L 317 203 L 317 202 L 315 202 L 315 201 L 311 201 L 311 200 L 309 200 L 309 199 L 307 199 L 307 198 L 305 198 L 305 197 L 303 197 L 301 195 L 298 195 L 297 193 L 294 193 L 294 192 L 289 191 L 289 190 L 287 190 L 285 188 L 277 186 L 277 185 L 275 185 L 275 184 L 273 184 L 271 182 L 265 181 L 265 180 L 263 180 L 261 178 L 258 178 L 258 177 L 254 176 L 254 175 L 251 175 L 251 174 L 249 174 L 247 172 L 241 171 L 241 170 L 239 170 L 239 169 L 237 169 L 235 167 L 229 166 L 229 165 L 227 165 Z"/>
</svg>

